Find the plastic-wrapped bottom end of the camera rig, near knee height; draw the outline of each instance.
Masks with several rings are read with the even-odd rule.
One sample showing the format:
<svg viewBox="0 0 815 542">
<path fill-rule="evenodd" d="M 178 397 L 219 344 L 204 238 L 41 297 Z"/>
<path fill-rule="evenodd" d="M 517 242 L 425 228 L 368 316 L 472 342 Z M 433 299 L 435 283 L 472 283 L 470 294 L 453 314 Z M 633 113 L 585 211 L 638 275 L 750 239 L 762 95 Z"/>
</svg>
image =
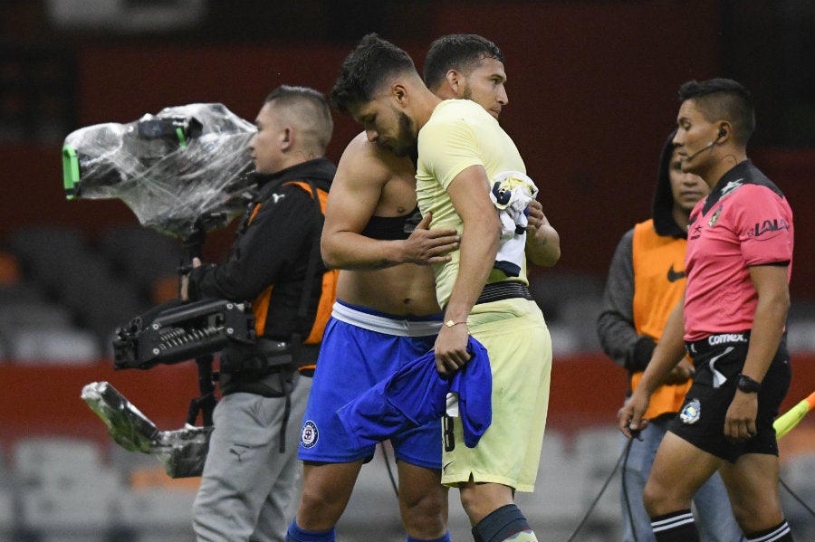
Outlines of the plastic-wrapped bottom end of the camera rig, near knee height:
<svg viewBox="0 0 815 542">
<path fill-rule="evenodd" d="M 158 431 L 147 416 L 107 382 L 85 385 L 82 400 L 108 426 L 114 442 L 130 452 L 154 456 L 171 478 L 200 476 L 204 471 L 212 427 L 185 425 L 175 431 Z"/>
</svg>

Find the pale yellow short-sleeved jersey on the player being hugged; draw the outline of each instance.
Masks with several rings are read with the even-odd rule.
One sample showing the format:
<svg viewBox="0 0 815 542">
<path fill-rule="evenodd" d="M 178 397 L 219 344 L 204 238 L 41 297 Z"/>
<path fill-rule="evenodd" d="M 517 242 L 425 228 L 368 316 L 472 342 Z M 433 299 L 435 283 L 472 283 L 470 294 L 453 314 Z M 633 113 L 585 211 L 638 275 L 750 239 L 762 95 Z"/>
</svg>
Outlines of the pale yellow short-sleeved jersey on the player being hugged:
<svg viewBox="0 0 815 542">
<path fill-rule="evenodd" d="M 461 233 L 463 224 L 446 188 L 455 176 L 476 165 L 484 166 L 490 179 L 504 171 L 526 172 L 513 140 L 481 106 L 472 100 L 442 101 L 418 134 L 417 201 L 422 214 L 433 214 L 431 228 L 455 228 Z M 484 197 L 489 195 L 484 192 Z M 453 291 L 459 255 L 454 251 L 451 261 L 434 266 L 436 297 L 442 307 Z M 487 282 L 505 280 L 503 271 L 493 270 Z M 520 276 L 513 280 L 528 283 L 525 260 Z"/>
</svg>

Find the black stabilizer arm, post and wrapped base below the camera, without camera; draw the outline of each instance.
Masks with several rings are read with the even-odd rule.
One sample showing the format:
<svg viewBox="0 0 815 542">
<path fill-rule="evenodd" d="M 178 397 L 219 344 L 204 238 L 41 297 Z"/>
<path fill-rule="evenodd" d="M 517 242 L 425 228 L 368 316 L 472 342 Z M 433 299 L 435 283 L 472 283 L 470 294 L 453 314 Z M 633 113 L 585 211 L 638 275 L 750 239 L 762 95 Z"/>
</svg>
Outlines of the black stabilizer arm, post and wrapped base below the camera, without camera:
<svg viewBox="0 0 815 542">
<path fill-rule="evenodd" d="M 186 261 L 179 267 L 179 287 L 193 255 L 199 255 L 206 237 L 206 219 L 185 239 Z M 185 302 L 171 300 L 118 328 L 113 340 L 113 368 L 149 369 L 195 359 L 200 395 L 190 401 L 187 421 L 176 431 L 158 428 L 107 382 L 82 389 L 82 399 L 108 426 L 115 442 L 131 452 L 149 453 L 164 463 L 172 478 L 200 476 L 212 433 L 216 406 L 213 354 L 230 342 L 256 340 L 254 315 L 248 304 L 227 300 Z M 201 414 L 202 426 L 197 426 Z"/>
</svg>

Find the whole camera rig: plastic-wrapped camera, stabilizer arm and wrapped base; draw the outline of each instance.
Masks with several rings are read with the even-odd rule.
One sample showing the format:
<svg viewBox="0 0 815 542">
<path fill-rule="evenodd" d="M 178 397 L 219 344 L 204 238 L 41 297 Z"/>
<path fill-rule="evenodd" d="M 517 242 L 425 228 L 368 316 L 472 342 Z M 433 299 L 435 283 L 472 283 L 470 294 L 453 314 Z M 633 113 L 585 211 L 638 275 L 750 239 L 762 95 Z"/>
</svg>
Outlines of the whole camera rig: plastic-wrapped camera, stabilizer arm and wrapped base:
<svg viewBox="0 0 815 542">
<path fill-rule="evenodd" d="M 128 124 L 81 128 L 62 148 L 65 195 L 118 198 L 143 226 L 181 238 L 180 292 L 193 258 L 201 257 L 206 233 L 229 223 L 254 195 L 248 151 L 254 132 L 251 122 L 211 103 L 165 108 Z M 158 431 L 108 383 L 86 385 L 82 399 L 122 447 L 156 456 L 173 478 L 200 475 L 216 405 L 213 354 L 230 341 L 255 340 L 248 303 L 169 301 L 117 329 L 114 368 L 149 369 L 195 359 L 200 396 L 190 402 L 185 426 Z M 202 427 L 196 426 L 199 413 Z"/>
</svg>

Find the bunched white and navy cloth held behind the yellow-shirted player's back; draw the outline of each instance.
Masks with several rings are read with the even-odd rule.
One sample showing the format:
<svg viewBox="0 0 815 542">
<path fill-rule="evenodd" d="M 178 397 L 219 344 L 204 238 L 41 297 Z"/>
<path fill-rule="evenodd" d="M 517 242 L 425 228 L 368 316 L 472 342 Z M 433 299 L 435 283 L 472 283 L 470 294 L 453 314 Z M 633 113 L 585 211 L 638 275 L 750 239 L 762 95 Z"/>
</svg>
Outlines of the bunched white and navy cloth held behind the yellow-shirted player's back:
<svg viewBox="0 0 815 542">
<path fill-rule="evenodd" d="M 503 171 L 494 176 L 490 199 L 501 219 L 501 241 L 495 256 L 495 269 L 508 277 L 521 271 L 526 247 L 526 208 L 538 195 L 532 179 L 520 171 Z"/>
</svg>

